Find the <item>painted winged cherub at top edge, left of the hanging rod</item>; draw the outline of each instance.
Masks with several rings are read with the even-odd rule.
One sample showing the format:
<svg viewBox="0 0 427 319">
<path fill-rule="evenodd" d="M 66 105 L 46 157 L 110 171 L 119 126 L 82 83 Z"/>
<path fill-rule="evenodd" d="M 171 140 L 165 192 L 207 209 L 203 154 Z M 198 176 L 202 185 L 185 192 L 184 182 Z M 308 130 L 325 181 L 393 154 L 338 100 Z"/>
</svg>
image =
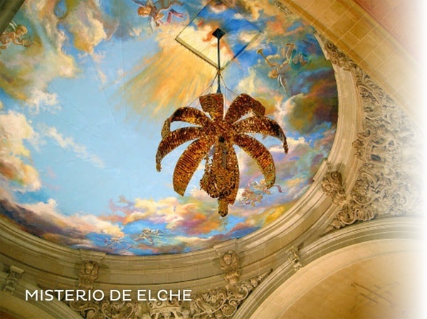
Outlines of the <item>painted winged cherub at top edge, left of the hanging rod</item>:
<svg viewBox="0 0 427 319">
<path fill-rule="evenodd" d="M 176 16 L 178 18 L 184 18 L 185 14 L 181 14 L 171 7 L 174 4 L 182 6 L 182 2 L 178 0 L 159 0 L 159 1 L 142 1 L 142 0 L 132 0 L 139 6 L 138 15 L 147 16 L 150 23 L 154 23 L 155 26 L 160 26 L 160 24 L 169 24 L 172 22 L 172 17 Z M 167 11 L 166 22 L 162 19 L 164 18 L 164 13 L 162 11 Z"/>
</svg>

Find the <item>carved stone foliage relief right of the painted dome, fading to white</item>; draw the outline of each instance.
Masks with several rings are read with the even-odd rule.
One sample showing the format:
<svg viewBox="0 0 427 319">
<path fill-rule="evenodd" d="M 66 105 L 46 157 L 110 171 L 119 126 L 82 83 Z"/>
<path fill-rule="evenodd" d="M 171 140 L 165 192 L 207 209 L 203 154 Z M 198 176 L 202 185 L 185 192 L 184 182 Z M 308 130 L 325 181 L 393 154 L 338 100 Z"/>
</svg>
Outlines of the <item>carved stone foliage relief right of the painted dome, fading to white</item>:
<svg viewBox="0 0 427 319">
<path fill-rule="evenodd" d="M 421 210 L 422 142 L 418 130 L 379 85 L 340 52 L 324 43 L 335 65 L 351 70 L 364 110 L 365 130 L 352 143 L 362 162 L 347 202 L 332 229 L 379 216 L 416 215 Z"/>
</svg>

